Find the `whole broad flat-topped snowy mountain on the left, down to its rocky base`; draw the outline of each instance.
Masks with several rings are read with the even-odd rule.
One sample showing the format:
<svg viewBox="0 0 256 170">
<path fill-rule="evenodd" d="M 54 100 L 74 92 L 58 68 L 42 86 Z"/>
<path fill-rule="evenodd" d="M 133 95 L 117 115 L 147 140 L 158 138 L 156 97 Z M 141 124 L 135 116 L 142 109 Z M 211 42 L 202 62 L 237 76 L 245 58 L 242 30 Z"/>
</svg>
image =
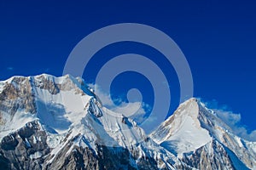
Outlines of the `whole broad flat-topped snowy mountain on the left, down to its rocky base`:
<svg viewBox="0 0 256 170">
<path fill-rule="evenodd" d="M 189 167 L 148 139 L 136 122 L 102 107 L 80 78 L 12 77 L 0 89 L 2 167 Z"/>
</svg>

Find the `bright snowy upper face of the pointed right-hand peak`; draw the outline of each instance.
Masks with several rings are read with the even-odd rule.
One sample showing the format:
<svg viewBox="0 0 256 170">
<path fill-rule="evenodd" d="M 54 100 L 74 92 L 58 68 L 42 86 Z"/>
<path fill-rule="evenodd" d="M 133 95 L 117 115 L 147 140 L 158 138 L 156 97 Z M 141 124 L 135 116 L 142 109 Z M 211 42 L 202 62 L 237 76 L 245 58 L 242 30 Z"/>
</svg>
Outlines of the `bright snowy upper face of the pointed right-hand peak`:
<svg viewBox="0 0 256 170">
<path fill-rule="evenodd" d="M 198 116 L 197 99 L 189 99 L 151 137 L 177 155 L 194 151 L 212 140 L 209 132 L 201 127 Z"/>
</svg>

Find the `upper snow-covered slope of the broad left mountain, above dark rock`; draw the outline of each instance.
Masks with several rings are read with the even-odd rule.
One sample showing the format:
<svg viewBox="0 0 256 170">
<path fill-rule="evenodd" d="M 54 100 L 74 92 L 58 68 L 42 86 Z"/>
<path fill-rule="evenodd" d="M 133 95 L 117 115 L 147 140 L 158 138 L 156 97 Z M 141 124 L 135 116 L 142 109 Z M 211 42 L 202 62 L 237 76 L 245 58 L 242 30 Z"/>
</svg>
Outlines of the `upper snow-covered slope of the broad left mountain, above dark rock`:
<svg viewBox="0 0 256 170">
<path fill-rule="evenodd" d="M 27 84 L 28 82 L 32 83 L 31 87 Z M 35 111 L 32 114 L 19 106 L 14 113 L 1 111 L 4 120 L 0 128 L 2 132 L 5 132 L 1 133 L 1 138 L 33 120 L 39 120 L 52 135 L 68 133 L 70 129 L 73 129 L 76 131 L 75 133 L 84 133 L 88 135 L 89 139 L 96 140 L 96 136 L 93 134 L 89 136 L 92 130 L 86 132 L 91 128 L 93 133 L 99 135 L 106 133 L 105 137 L 102 136 L 102 140 L 106 141 L 101 142 L 109 142 L 107 138 L 109 135 L 121 146 L 136 144 L 139 140 L 146 138 L 143 130 L 137 127 L 135 122 L 121 114 L 119 116 L 111 114 L 111 111 L 102 108 L 96 100 L 95 94 L 92 94 L 90 90 L 87 91 L 90 93 L 85 94 L 81 90 L 78 80 L 73 77 L 52 77 L 44 74 L 38 77 L 13 77 L 5 83 L 7 83 L 6 86 L 14 87 L 17 91 L 29 88 L 30 93 L 24 95 L 27 98 L 34 96 L 31 100 L 33 100 L 32 105 Z M 3 89 L 6 88 L 3 87 Z M 17 94 L 20 93 L 19 91 Z M 9 98 L 9 96 L 6 97 Z M 22 104 L 20 102 L 22 97 L 17 97 L 14 100 L 9 102 L 12 102 L 12 105 Z"/>
</svg>

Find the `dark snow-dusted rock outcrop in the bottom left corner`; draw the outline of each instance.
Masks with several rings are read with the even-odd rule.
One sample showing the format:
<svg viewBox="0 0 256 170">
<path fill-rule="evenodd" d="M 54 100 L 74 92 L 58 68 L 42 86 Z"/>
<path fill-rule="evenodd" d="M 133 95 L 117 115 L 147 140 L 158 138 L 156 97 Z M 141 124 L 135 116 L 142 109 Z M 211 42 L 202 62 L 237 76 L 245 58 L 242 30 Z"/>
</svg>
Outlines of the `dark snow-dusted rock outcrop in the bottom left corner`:
<svg viewBox="0 0 256 170">
<path fill-rule="evenodd" d="M 37 121 L 4 137 L 0 143 L 0 169 L 41 169 L 50 151 L 46 139 Z"/>
</svg>

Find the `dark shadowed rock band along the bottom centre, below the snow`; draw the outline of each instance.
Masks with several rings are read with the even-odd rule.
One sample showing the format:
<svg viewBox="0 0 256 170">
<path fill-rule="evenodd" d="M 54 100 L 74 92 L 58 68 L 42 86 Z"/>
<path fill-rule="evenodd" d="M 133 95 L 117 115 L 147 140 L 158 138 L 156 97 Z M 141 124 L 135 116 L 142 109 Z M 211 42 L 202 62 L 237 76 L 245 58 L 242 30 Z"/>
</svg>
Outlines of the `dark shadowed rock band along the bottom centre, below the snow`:
<svg viewBox="0 0 256 170">
<path fill-rule="evenodd" d="M 78 137 L 75 137 L 78 138 Z M 55 159 L 45 169 L 158 169 L 153 157 L 137 159 L 137 150 L 131 152 L 125 148 L 96 145 L 96 151 L 88 147 L 75 145 L 70 151 L 72 140 L 55 156 Z M 67 154 L 68 153 L 68 154 Z M 135 155 L 133 155 L 133 154 Z M 50 158 L 50 157 L 49 157 Z M 137 160 L 137 165 L 131 164 Z M 46 160 L 47 161 L 47 160 Z M 185 168 L 185 167 L 183 167 Z M 162 169 L 167 169 L 163 167 Z"/>
</svg>

